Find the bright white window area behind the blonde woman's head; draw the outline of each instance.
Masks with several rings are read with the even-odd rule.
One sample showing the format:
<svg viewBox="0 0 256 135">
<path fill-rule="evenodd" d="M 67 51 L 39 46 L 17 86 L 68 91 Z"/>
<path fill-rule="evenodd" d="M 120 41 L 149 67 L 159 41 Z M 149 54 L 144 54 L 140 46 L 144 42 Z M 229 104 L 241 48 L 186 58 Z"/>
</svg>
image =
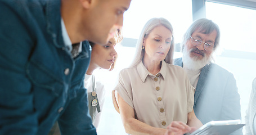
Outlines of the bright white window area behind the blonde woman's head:
<svg viewBox="0 0 256 135">
<path fill-rule="evenodd" d="M 124 13 L 124 37 L 137 39 L 143 26 L 153 17 L 164 17 L 170 21 L 178 43 L 192 22 L 191 1 L 132 1 L 129 10 Z"/>
</svg>

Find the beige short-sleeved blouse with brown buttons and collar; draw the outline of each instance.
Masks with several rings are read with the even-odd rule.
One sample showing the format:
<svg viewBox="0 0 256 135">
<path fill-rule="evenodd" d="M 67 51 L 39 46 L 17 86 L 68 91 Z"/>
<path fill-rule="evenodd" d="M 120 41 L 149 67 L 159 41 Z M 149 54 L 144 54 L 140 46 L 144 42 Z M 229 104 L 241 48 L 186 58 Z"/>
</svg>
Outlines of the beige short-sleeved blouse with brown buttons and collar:
<svg viewBox="0 0 256 135">
<path fill-rule="evenodd" d="M 115 89 L 135 110 L 136 118 L 152 127 L 167 128 L 173 121 L 187 123 L 187 113 L 194 105 L 195 89 L 185 71 L 164 61 L 156 75 L 142 62 L 121 70 Z"/>
</svg>

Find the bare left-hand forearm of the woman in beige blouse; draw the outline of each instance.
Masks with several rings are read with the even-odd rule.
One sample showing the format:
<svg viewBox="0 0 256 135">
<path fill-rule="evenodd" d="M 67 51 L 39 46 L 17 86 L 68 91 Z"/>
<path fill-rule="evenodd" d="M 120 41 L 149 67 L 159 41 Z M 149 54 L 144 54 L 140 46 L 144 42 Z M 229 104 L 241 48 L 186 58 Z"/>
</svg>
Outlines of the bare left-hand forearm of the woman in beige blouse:
<svg viewBox="0 0 256 135">
<path fill-rule="evenodd" d="M 166 129 L 163 128 L 155 128 L 147 125 L 146 123 L 140 122 L 137 119 L 129 118 L 123 122 L 125 132 L 128 134 L 152 134 L 159 135 L 164 134 Z"/>
</svg>

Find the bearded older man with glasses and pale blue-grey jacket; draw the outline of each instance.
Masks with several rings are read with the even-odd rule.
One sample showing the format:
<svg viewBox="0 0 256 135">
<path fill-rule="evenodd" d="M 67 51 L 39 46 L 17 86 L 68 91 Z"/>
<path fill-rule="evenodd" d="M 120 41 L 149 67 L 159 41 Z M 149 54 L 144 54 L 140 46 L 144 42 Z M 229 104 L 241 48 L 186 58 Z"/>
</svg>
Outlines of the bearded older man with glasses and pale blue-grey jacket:
<svg viewBox="0 0 256 135">
<path fill-rule="evenodd" d="M 196 20 L 183 37 L 182 58 L 174 61 L 187 72 L 196 89 L 194 111 L 203 124 L 212 120 L 241 119 L 236 80 L 232 73 L 212 61 L 219 36 L 219 27 L 212 20 Z M 232 134 L 242 134 L 242 128 Z"/>
</svg>

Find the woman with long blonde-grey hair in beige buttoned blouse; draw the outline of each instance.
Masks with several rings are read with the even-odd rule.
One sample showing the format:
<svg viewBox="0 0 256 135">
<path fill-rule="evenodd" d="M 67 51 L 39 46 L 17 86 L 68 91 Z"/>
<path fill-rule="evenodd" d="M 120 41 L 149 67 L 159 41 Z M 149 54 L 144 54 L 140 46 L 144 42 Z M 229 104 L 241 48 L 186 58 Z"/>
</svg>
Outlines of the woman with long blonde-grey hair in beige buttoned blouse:
<svg viewBox="0 0 256 135">
<path fill-rule="evenodd" d="M 144 26 L 136 57 L 119 74 L 118 103 L 129 134 L 184 134 L 201 127 L 196 118 L 194 88 L 185 71 L 172 65 L 173 28 L 163 18 Z M 169 126 L 168 126 L 169 125 Z"/>
</svg>

